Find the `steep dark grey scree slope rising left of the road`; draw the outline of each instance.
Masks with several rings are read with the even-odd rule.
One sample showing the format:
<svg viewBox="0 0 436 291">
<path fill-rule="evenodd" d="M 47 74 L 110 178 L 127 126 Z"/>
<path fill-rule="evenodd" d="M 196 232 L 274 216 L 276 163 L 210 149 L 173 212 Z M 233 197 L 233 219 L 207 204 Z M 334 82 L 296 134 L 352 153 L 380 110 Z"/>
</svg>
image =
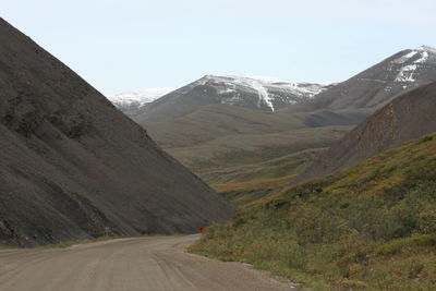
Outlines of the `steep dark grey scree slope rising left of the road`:
<svg viewBox="0 0 436 291">
<path fill-rule="evenodd" d="M 0 20 L 0 244 L 194 232 L 234 208 Z"/>
</svg>

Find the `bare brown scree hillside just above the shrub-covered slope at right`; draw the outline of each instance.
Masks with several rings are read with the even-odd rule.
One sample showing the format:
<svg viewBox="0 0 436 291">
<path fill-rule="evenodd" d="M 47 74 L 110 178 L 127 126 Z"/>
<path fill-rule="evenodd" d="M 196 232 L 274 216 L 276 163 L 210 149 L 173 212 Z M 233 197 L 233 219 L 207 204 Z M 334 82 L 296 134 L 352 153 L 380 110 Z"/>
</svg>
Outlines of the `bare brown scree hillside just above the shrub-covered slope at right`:
<svg viewBox="0 0 436 291">
<path fill-rule="evenodd" d="M 322 155 L 295 182 L 322 177 L 436 131 L 436 82 L 379 109 Z"/>
</svg>

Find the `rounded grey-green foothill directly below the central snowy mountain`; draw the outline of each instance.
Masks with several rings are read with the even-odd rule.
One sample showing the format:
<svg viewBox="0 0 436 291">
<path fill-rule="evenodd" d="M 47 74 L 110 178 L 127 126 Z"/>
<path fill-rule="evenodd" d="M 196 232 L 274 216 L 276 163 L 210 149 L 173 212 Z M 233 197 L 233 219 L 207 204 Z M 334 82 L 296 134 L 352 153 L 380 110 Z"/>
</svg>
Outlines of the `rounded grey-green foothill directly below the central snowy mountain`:
<svg viewBox="0 0 436 291">
<path fill-rule="evenodd" d="M 164 148 L 187 147 L 237 134 L 268 134 L 305 128 L 303 118 L 293 114 L 230 105 L 203 106 L 162 122 L 140 119 L 134 118 Z"/>
</svg>

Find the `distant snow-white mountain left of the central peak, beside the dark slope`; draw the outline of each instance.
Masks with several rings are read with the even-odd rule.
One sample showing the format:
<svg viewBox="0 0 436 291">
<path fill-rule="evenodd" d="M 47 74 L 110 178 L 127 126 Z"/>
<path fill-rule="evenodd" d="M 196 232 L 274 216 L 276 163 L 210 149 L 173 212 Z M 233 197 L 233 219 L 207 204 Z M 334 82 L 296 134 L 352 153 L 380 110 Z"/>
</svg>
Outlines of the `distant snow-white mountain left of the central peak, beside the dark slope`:
<svg viewBox="0 0 436 291">
<path fill-rule="evenodd" d="M 108 99 L 121 111 L 131 111 L 153 102 L 177 88 L 148 88 L 138 89 L 109 96 Z"/>
</svg>

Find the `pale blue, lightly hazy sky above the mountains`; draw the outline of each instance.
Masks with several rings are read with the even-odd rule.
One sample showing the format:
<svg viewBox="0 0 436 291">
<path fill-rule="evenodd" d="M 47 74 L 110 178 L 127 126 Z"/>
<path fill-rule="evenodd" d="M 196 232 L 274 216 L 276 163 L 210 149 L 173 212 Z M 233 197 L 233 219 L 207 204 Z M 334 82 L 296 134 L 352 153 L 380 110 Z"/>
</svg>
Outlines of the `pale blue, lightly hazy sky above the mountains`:
<svg viewBox="0 0 436 291">
<path fill-rule="evenodd" d="M 0 15 L 102 94 L 206 74 L 340 82 L 436 47 L 434 0 L 0 0 Z"/>
</svg>

